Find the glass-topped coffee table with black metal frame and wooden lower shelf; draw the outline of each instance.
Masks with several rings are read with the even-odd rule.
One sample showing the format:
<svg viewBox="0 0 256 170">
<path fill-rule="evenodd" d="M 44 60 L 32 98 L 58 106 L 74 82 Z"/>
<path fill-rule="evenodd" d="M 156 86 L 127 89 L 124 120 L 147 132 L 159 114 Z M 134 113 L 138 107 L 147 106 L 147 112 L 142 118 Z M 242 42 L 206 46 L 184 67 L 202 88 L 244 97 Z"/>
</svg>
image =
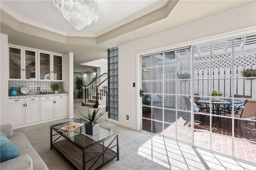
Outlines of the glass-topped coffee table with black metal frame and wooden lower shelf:
<svg viewBox="0 0 256 170">
<path fill-rule="evenodd" d="M 118 132 L 100 126 L 94 136 L 85 134 L 85 127 L 71 131 L 61 128 L 71 123 L 84 123 L 83 119 L 74 119 L 50 126 L 50 147 L 62 156 L 74 169 L 99 169 L 108 162 L 119 160 Z"/>
</svg>

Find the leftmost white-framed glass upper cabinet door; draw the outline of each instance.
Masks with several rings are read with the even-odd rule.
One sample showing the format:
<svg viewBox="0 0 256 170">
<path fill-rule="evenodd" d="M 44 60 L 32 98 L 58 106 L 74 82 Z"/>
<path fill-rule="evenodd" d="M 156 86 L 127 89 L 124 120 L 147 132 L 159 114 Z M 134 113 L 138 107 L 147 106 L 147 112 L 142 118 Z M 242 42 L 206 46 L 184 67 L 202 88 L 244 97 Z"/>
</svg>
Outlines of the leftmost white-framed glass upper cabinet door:
<svg viewBox="0 0 256 170">
<path fill-rule="evenodd" d="M 22 55 L 22 48 L 9 45 L 9 79 L 23 79 Z"/>
</svg>

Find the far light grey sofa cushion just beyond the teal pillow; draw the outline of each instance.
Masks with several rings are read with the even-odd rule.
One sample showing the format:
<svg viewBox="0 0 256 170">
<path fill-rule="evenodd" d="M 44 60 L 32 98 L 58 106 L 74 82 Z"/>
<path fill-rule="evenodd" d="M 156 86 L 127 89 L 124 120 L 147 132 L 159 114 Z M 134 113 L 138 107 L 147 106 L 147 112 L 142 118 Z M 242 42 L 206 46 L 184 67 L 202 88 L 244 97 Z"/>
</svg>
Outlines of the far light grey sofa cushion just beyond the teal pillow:
<svg viewBox="0 0 256 170">
<path fill-rule="evenodd" d="M 18 148 L 18 150 L 32 147 L 25 134 L 22 132 L 14 133 L 9 140 Z"/>
</svg>

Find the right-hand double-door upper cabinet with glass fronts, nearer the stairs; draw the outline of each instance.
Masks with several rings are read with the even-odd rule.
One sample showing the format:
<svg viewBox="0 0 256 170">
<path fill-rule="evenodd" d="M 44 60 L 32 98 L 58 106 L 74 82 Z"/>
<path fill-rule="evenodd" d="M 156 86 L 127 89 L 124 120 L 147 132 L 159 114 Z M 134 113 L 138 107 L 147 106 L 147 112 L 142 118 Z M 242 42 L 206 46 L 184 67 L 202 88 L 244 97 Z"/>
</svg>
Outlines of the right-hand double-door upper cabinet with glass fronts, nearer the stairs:
<svg viewBox="0 0 256 170">
<path fill-rule="evenodd" d="M 41 81 L 63 81 L 63 55 L 38 51 L 38 77 Z"/>
</svg>

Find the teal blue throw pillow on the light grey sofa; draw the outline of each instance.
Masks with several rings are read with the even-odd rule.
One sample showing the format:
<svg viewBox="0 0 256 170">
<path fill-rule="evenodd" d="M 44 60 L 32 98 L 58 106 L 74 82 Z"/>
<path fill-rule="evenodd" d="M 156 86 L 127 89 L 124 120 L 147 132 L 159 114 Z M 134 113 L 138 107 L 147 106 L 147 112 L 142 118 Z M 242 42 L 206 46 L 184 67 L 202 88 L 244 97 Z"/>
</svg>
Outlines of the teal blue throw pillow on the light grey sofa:
<svg viewBox="0 0 256 170">
<path fill-rule="evenodd" d="M 19 150 L 16 146 L 3 134 L 0 132 L 0 162 L 10 160 L 20 156 Z"/>
</svg>

